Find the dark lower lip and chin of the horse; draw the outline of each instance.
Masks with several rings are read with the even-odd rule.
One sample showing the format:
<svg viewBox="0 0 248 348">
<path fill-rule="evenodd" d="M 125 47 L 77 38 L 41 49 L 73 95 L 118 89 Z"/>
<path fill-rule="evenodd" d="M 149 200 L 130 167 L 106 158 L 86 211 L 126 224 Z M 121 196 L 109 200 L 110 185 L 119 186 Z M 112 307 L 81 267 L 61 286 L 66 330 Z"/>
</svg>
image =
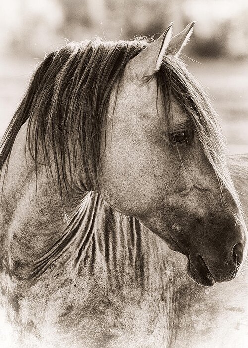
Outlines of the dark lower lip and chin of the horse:
<svg viewBox="0 0 248 348">
<path fill-rule="evenodd" d="M 216 283 L 213 275 L 200 255 L 194 258 L 193 262 L 189 258 L 187 272 L 189 278 L 201 286 L 213 286 Z"/>
</svg>

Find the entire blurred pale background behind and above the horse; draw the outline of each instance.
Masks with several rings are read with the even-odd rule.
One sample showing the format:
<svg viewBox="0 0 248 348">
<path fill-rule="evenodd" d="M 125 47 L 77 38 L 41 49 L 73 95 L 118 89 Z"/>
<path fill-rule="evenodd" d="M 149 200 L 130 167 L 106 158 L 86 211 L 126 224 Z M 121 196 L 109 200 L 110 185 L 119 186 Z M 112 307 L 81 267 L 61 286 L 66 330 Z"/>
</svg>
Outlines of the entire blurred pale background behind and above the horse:
<svg viewBox="0 0 248 348">
<path fill-rule="evenodd" d="M 248 153 L 247 0 L 5 0 L 0 11 L 0 138 L 45 53 L 95 35 L 156 38 L 197 21 L 182 57 L 207 88 L 228 152 Z M 189 58 L 190 57 L 190 58 Z"/>
</svg>

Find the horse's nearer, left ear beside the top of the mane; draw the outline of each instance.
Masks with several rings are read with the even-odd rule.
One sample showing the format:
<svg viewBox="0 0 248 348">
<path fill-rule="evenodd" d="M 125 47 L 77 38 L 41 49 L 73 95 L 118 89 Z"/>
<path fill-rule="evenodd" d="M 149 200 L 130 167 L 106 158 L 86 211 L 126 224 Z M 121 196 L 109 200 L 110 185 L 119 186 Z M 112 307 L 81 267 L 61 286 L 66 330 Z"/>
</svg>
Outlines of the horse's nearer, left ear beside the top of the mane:
<svg viewBox="0 0 248 348">
<path fill-rule="evenodd" d="M 131 71 L 132 75 L 140 79 L 151 76 L 160 69 L 163 56 L 172 36 L 172 25 L 173 22 L 168 26 L 163 35 L 127 63 L 128 72 Z"/>
</svg>

